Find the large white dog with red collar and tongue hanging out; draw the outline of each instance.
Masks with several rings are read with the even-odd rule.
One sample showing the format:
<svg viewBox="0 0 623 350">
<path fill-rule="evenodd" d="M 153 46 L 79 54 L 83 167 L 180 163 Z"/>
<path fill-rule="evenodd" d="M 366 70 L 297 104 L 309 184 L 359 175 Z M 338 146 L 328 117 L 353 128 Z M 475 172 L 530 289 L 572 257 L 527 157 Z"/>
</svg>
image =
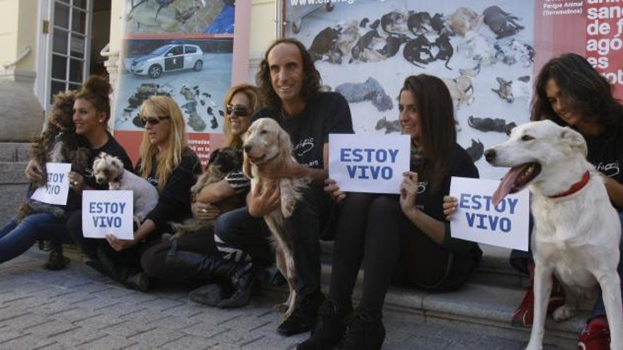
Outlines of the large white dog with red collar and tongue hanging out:
<svg viewBox="0 0 623 350">
<path fill-rule="evenodd" d="M 528 185 L 534 194 L 535 318 L 527 349 L 542 348 L 552 273 L 566 295 L 554 319 L 571 317 L 577 297 L 599 284 L 610 348 L 623 349 L 617 274 L 621 224 L 599 173 L 585 160 L 587 153 L 580 133 L 549 120 L 515 127 L 508 141 L 485 151 L 491 165 L 512 167 L 493 194 L 495 204 Z"/>
</svg>

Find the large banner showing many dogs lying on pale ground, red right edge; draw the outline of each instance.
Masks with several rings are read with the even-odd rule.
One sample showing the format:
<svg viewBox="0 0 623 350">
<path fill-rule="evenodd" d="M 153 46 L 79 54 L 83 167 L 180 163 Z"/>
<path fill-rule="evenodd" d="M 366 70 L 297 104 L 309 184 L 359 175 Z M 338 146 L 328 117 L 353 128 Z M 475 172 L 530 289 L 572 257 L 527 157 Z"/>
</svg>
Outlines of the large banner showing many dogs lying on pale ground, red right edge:
<svg viewBox="0 0 623 350">
<path fill-rule="evenodd" d="M 284 0 L 280 13 L 282 35 L 301 40 L 325 88 L 348 100 L 355 132 L 399 133 L 404 79 L 438 76 L 455 103 L 457 141 L 481 177 L 498 180 L 504 169 L 488 165 L 483 151 L 530 120 L 533 77 L 548 59 L 573 51 L 597 65 L 610 55 L 611 81 L 623 80 L 617 15 L 599 20 L 610 22 L 612 45 L 596 42 L 603 38 L 590 35 L 589 11 L 607 5 L 585 2 Z"/>
</svg>

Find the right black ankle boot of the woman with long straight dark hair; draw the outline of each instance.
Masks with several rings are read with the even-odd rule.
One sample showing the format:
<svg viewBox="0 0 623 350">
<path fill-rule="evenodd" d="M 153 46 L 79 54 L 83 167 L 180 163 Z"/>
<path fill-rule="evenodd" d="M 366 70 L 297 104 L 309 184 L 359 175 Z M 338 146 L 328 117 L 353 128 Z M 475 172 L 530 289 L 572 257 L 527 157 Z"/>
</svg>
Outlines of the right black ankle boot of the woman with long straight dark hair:
<svg viewBox="0 0 623 350">
<path fill-rule="evenodd" d="M 379 350 L 385 340 L 381 313 L 357 310 L 346 321 L 346 333 L 338 346 L 340 350 Z"/>
</svg>

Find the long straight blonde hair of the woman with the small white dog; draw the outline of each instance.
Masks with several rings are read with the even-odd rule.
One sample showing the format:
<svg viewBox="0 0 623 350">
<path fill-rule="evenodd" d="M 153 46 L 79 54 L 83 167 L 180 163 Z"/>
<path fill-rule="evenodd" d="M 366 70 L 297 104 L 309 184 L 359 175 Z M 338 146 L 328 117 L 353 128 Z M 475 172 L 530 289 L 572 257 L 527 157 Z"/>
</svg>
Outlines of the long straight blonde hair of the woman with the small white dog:
<svg viewBox="0 0 623 350">
<path fill-rule="evenodd" d="M 164 154 L 161 154 L 158 168 L 156 168 L 158 187 L 161 190 L 164 188 L 168 177 L 173 173 L 173 169 L 181 163 L 182 151 L 188 147 L 184 118 L 182 117 L 182 111 L 178 104 L 168 96 L 152 96 L 144 100 L 139 113 L 141 116 L 166 115 L 171 118 L 168 147 L 164 150 Z M 147 134 L 146 129 L 143 133 L 143 141 L 141 142 L 139 151 L 141 158 L 140 175 L 142 177 L 147 178 L 149 174 L 152 173 L 152 167 L 154 166 L 153 160 L 157 153 L 158 147 L 149 141 L 149 134 Z"/>
</svg>

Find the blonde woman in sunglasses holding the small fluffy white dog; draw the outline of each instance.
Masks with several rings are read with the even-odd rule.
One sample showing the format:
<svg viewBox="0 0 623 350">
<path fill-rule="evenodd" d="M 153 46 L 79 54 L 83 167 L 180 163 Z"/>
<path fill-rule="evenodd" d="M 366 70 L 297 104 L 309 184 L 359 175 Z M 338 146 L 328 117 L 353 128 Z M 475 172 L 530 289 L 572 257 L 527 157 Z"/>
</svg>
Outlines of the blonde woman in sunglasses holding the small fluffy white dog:
<svg viewBox="0 0 623 350">
<path fill-rule="evenodd" d="M 190 216 L 190 187 L 200 173 L 200 161 L 188 147 L 182 112 L 173 99 L 152 96 L 141 105 L 139 115 L 145 132 L 135 173 L 159 190 L 158 204 L 137 228 L 134 240 L 120 240 L 112 234 L 105 240 L 83 238 L 79 215 L 68 227 L 91 258 L 91 267 L 129 288 L 147 291 L 149 276 L 139 262 L 142 252 L 169 231 L 169 221 Z"/>
</svg>

